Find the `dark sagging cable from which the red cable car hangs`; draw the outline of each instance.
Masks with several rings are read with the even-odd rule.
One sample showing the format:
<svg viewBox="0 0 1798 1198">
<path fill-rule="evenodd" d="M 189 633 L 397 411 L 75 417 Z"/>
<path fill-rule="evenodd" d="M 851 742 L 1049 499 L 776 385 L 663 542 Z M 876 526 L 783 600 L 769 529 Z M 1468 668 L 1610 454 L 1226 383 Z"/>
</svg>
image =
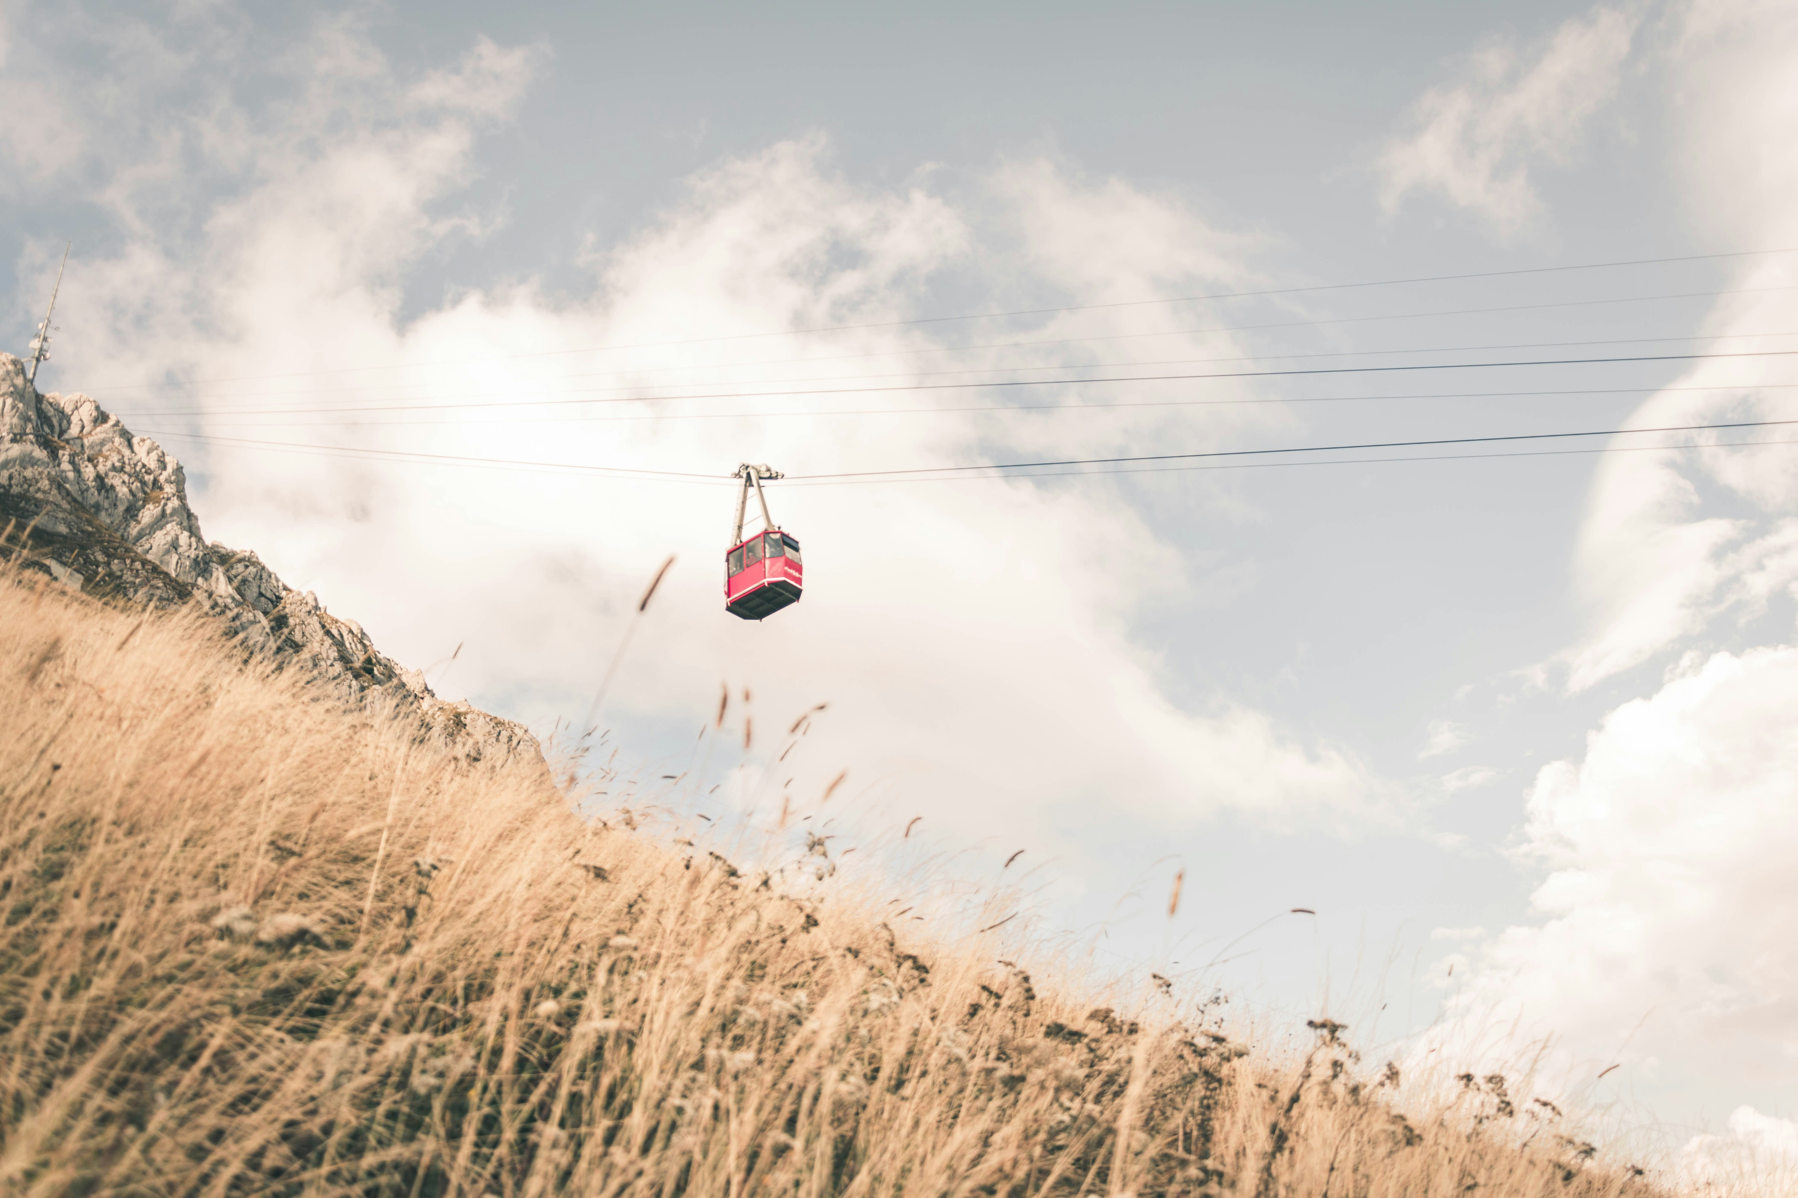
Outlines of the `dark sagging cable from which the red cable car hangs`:
<svg viewBox="0 0 1798 1198">
<path fill-rule="evenodd" d="M 935 476 L 935 474 L 964 474 L 971 471 L 1028 471 L 1028 469 L 1046 469 L 1046 467 L 1068 467 L 1068 465 L 1133 465 L 1138 462 L 1194 462 L 1194 460 L 1215 460 L 1215 458 L 1251 458 L 1268 454 L 1298 454 L 1298 453 L 1350 453 L 1359 449 L 1429 449 L 1437 445 L 1489 445 L 1498 442 L 1535 442 L 1535 440 L 1568 440 L 1579 436 L 1629 436 L 1642 433 L 1705 433 L 1721 429 L 1762 429 L 1762 427 L 1785 427 L 1798 424 L 1793 420 L 1733 420 L 1726 424 L 1669 424 L 1642 429 L 1584 429 L 1575 433 L 1509 433 L 1503 436 L 1438 436 L 1429 440 L 1397 440 L 1397 442 L 1350 442 L 1340 445 L 1286 445 L 1280 449 L 1206 449 L 1199 453 L 1156 453 L 1156 454 L 1135 454 L 1118 458 L 1061 458 L 1050 462 L 987 462 L 980 465 L 937 465 L 937 467 L 913 467 L 901 471 L 843 471 L 836 474 L 788 474 L 791 481 L 838 481 L 838 480 L 886 480 L 903 476 Z M 476 458 L 469 454 L 439 454 L 423 453 L 408 449 L 374 449 L 363 445 L 307 445 L 300 442 L 259 442 L 248 438 L 228 438 L 228 436 L 209 436 L 203 433 L 182 433 L 182 431 L 160 431 L 144 429 L 153 436 L 182 436 L 187 440 L 200 442 L 219 442 L 219 444 L 237 444 L 237 445 L 257 445 L 257 447 L 277 447 L 277 449 L 322 449 L 342 454 L 360 454 L 374 458 L 414 458 L 426 462 L 464 462 L 476 465 L 512 465 L 512 467 L 532 467 L 532 469 L 554 469 L 554 471 L 584 471 L 584 472 L 602 472 L 602 474 L 622 474 L 622 476 L 649 476 L 649 478 L 678 478 L 714 483 L 723 478 L 719 474 L 694 474 L 680 471 L 638 471 L 631 467 L 602 467 L 602 465 L 584 465 L 577 462 L 523 462 L 514 458 Z M 1030 478 L 1028 474 L 1010 474 L 1005 478 Z"/>
</svg>

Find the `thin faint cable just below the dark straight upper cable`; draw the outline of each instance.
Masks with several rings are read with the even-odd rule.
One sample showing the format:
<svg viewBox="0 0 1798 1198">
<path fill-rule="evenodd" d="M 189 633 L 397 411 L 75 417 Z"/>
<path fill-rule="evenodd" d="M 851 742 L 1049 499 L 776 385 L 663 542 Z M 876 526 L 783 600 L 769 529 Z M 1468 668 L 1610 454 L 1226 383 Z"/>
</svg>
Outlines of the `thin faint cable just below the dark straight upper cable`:
<svg viewBox="0 0 1798 1198">
<path fill-rule="evenodd" d="M 1066 404 L 964 404 L 958 408 L 811 408 L 802 411 L 654 411 L 635 417 L 485 417 L 475 420 L 291 420 L 275 424 L 257 420 L 255 424 L 218 424 L 207 427 L 243 427 L 243 429 L 405 429 L 405 427 L 462 427 L 484 424 L 636 424 L 644 420 L 773 420 L 780 417 L 928 417 L 958 415 L 971 411 L 1111 411 L 1135 408 L 1241 408 L 1264 404 L 1352 404 L 1381 402 L 1397 399 L 1548 399 L 1555 395 L 1649 395 L 1654 392 L 1787 392 L 1798 383 L 1739 383 L 1728 386 L 1595 386 L 1555 392 L 1410 392 L 1384 395 L 1278 395 L 1253 399 L 1140 399 L 1109 404 L 1088 404 L 1081 401 Z M 250 415 L 250 413 L 223 413 Z"/>
</svg>

